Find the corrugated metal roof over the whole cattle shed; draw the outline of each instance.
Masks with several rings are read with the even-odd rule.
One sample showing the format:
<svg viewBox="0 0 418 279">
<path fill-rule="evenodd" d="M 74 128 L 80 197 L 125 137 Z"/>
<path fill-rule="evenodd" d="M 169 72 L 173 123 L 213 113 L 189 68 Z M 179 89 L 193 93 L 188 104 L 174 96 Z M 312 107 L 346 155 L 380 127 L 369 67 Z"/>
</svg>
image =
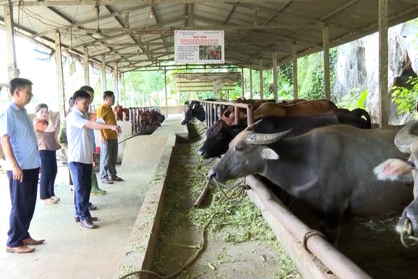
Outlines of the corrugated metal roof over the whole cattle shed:
<svg viewBox="0 0 418 279">
<path fill-rule="evenodd" d="M 0 6 L 7 2 L 0 0 Z M 331 47 L 366 36 L 378 29 L 376 0 L 192 1 L 195 3 L 192 4 L 193 15 L 190 17 L 189 3 L 179 3 L 183 2 L 180 0 L 174 1 L 176 3 L 155 0 L 153 4 L 141 1 L 137 5 L 132 4 L 134 1 L 107 0 L 109 5 L 100 6 L 100 29 L 107 36 L 98 40 L 91 33 L 83 31 L 97 27 L 93 1 L 64 1 L 73 3 L 71 6 L 61 6 L 64 2 L 59 1 L 20 2 L 28 6 L 17 6 L 17 1 L 12 1 L 16 5 L 13 8 L 13 18 L 15 24 L 26 31 L 26 35 L 51 45 L 54 33 L 59 29 L 65 49 L 82 54 L 83 47 L 87 46 L 93 59 L 100 62 L 101 54 L 104 53 L 107 66 L 113 67 L 117 60 L 118 68 L 122 71 L 171 61 L 174 52 L 173 32 L 139 35 L 122 30 L 125 26 L 125 12 L 129 12 L 130 28 L 175 29 L 194 24 L 198 30 L 199 26 L 223 25 L 225 61 L 240 66 L 251 64 L 254 68 L 258 68 L 258 59 L 263 60 L 263 66 L 270 67 L 272 52 L 277 52 L 279 63 L 289 61 L 292 44 L 296 45 L 298 56 L 320 51 L 324 26 L 329 27 Z M 91 2 L 91 5 L 77 5 L 86 2 Z M 48 3 L 56 6 L 45 6 Z M 417 1 L 389 0 L 389 25 L 417 16 Z M 188 23 L 188 18 L 193 18 L 193 22 Z M 3 10 L 0 10 L 0 20 L 3 20 Z M 277 24 L 287 26 L 281 29 L 270 28 Z M 240 25 L 242 29 L 237 31 L 234 27 L 232 30 L 231 27 L 235 25 Z M 245 28 L 254 25 L 260 28 Z M 116 31 L 107 32 L 107 29 Z M 138 51 L 141 55 L 132 55 Z"/>
</svg>

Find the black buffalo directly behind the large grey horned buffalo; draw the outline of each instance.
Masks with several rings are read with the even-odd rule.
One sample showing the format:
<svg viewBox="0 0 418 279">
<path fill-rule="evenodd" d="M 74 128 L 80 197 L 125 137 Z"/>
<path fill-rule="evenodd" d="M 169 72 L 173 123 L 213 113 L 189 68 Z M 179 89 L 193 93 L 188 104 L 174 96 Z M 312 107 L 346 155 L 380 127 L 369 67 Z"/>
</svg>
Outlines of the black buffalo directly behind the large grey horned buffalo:
<svg viewBox="0 0 418 279">
<path fill-rule="evenodd" d="M 363 112 L 362 112 L 363 111 Z M 362 118 L 366 116 L 366 119 Z M 365 110 L 338 110 L 334 114 L 309 116 L 270 116 L 255 126 L 257 133 L 277 133 L 293 129 L 290 136 L 302 135 L 314 128 L 333 124 L 348 124 L 358 128 L 371 128 L 370 116 Z M 222 120 L 217 121 L 206 130 L 206 141 L 199 149 L 199 156 L 204 158 L 218 157 L 228 150 L 231 140 L 245 129 L 245 125 L 229 126 Z"/>
</svg>

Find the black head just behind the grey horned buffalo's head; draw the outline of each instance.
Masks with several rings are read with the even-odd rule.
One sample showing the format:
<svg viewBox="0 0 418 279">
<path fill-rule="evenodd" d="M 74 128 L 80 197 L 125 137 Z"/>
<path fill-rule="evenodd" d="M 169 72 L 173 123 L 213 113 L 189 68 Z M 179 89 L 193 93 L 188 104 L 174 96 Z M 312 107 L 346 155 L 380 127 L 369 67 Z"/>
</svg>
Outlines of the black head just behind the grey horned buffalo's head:
<svg viewBox="0 0 418 279">
<path fill-rule="evenodd" d="M 226 125 L 225 121 L 218 120 L 206 130 L 206 141 L 199 149 L 199 156 L 204 158 L 219 157 L 228 151 L 229 142 L 244 128 Z"/>
</svg>

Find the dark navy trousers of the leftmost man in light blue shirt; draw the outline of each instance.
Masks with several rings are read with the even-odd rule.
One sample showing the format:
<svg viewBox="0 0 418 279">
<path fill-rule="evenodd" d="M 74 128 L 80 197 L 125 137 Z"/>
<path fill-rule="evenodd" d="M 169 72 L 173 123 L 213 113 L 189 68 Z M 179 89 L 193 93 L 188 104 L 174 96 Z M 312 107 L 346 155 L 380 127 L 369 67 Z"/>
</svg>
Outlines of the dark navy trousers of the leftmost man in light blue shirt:
<svg viewBox="0 0 418 279">
<path fill-rule="evenodd" d="M 12 202 L 7 246 L 19 247 L 23 244 L 23 239 L 31 237 L 29 226 L 35 211 L 39 168 L 24 169 L 23 182 L 13 179 L 12 171 L 7 171 L 7 176 Z"/>
</svg>

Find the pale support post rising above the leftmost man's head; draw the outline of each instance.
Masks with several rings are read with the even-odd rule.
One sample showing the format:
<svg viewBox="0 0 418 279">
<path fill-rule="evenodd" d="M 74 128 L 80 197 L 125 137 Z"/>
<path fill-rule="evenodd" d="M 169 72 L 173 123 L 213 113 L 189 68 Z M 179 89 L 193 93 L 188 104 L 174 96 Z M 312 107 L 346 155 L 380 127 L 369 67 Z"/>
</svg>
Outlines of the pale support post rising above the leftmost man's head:
<svg viewBox="0 0 418 279">
<path fill-rule="evenodd" d="M 10 5 L 4 5 L 3 14 L 4 14 L 4 28 L 6 29 L 8 79 L 13 80 L 15 77 L 19 77 L 19 70 L 17 70 L 17 63 L 16 63 L 15 26 L 13 24 L 13 8 Z"/>
</svg>

